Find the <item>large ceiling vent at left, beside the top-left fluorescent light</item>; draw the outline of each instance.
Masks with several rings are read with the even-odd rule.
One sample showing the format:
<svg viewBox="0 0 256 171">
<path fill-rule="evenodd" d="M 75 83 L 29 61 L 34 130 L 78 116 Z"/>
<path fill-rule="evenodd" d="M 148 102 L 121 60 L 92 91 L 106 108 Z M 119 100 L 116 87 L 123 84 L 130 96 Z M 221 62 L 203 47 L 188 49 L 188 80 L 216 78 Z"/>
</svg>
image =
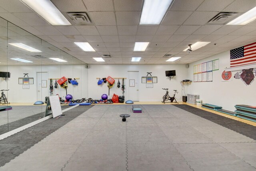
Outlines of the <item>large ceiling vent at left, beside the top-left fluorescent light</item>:
<svg viewBox="0 0 256 171">
<path fill-rule="evenodd" d="M 84 26 L 92 24 L 86 12 L 67 12 L 66 15 L 74 26 Z"/>
</svg>

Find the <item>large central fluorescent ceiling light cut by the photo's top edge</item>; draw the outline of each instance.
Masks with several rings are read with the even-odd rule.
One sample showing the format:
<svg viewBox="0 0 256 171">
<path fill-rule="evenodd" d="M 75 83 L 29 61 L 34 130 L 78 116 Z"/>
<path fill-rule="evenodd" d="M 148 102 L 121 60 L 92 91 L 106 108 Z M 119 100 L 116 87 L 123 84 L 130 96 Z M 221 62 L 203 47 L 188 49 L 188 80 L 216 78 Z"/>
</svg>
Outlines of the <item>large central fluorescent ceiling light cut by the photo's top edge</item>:
<svg viewBox="0 0 256 171">
<path fill-rule="evenodd" d="M 172 0 L 144 0 L 140 25 L 160 24 Z"/>
</svg>

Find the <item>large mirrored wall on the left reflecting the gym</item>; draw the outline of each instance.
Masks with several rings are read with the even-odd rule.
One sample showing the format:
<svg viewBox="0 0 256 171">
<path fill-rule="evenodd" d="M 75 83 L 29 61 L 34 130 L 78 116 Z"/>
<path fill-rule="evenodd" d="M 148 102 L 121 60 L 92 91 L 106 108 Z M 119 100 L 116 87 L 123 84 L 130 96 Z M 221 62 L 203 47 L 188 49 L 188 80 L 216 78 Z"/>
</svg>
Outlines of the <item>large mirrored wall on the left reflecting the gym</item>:
<svg viewBox="0 0 256 171">
<path fill-rule="evenodd" d="M 78 85 L 66 82 L 65 89 L 62 77 Z M 84 62 L 0 18 L 0 134 L 44 117 L 46 104 L 34 103 L 50 95 L 88 98 L 87 80 Z"/>
</svg>

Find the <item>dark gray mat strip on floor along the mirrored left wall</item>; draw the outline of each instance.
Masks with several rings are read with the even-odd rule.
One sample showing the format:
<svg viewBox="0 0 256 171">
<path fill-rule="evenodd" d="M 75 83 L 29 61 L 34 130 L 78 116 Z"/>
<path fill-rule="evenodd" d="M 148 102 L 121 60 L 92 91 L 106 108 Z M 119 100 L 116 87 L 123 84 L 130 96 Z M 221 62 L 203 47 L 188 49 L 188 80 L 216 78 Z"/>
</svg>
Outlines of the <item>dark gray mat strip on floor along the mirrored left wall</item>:
<svg viewBox="0 0 256 171">
<path fill-rule="evenodd" d="M 64 112 L 64 116 L 50 118 L 42 121 L 32 127 L 24 129 L 14 135 L 0 140 L 0 167 L 16 156 L 20 155 L 84 111 L 90 109 L 93 105 L 78 106 L 74 109 Z M 79 110 L 79 111 L 78 111 Z M 40 162 L 40 161 L 38 161 Z"/>
</svg>

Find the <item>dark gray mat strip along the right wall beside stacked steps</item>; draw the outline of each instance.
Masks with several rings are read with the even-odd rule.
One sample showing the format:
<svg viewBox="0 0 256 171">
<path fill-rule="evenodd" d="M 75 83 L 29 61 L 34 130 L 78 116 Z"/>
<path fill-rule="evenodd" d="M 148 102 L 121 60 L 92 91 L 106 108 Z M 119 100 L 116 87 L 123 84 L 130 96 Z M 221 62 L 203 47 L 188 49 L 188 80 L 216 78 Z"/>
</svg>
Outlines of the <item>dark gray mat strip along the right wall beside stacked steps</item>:
<svg viewBox="0 0 256 171">
<path fill-rule="evenodd" d="M 209 111 L 198 109 L 196 107 L 192 107 L 189 105 L 175 105 L 175 106 L 180 109 L 186 110 L 190 113 L 193 113 L 195 115 L 198 115 L 204 119 L 217 123 L 223 127 L 231 129 L 232 131 L 236 131 L 242 135 L 245 135 L 246 137 L 250 137 L 251 139 L 256 140 L 256 127 L 253 125 L 236 121 L 234 119 L 217 115 Z"/>
</svg>

